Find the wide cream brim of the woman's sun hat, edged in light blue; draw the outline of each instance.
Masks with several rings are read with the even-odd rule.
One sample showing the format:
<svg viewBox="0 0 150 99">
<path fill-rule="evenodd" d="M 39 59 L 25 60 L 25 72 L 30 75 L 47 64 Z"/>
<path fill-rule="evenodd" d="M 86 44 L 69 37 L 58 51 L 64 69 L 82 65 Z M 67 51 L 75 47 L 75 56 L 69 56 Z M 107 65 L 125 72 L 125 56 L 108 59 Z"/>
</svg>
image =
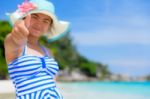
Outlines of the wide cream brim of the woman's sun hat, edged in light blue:
<svg viewBox="0 0 150 99">
<path fill-rule="evenodd" d="M 24 14 L 23 16 L 19 16 L 18 12 L 14 12 L 10 15 L 10 21 L 12 25 L 19 19 L 22 19 L 23 17 L 27 16 L 28 14 L 32 13 L 42 13 L 45 15 L 48 15 L 52 18 L 53 24 L 48 30 L 47 33 L 44 33 L 44 36 L 47 38 L 48 42 L 53 42 L 55 40 L 58 40 L 65 36 L 70 31 L 70 23 L 66 21 L 58 21 L 57 17 L 46 10 L 32 10 L 28 13 Z"/>
</svg>

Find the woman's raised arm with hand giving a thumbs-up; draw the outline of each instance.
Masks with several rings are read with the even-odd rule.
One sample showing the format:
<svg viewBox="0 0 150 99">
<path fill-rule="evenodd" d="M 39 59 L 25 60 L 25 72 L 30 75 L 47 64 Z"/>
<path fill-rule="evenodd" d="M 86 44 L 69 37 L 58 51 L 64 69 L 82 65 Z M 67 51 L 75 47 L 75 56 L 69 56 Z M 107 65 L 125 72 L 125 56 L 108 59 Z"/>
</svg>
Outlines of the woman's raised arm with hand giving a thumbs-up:
<svg viewBox="0 0 150 99">
<path fill-rule="evenodd" d="M 12 32 L 9 33 L 4 41 L 5 58 L 7 63 L 13 61 L 22 52 L 22 47 L 27 42 L 29 31 L 26 24 L 30 24 L 30 16 L 25 20 L 19 20 L 15 23 Z"/>
</svg>

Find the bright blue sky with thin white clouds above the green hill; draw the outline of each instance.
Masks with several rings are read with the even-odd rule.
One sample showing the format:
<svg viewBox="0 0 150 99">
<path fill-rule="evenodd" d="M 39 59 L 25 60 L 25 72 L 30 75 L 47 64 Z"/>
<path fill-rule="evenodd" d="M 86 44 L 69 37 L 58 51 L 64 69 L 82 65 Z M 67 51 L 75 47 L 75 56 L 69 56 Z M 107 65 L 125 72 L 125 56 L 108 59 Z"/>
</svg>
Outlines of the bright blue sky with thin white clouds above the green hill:
<svg viewBox="0 0 150 99">
<path fill-rule="evenodd" d="M 0 19 L 24 0 L 3 0 Z M 81 55 L 114 74 L 150 74 L 150 0 L 51 0 Z"/>
</svg>

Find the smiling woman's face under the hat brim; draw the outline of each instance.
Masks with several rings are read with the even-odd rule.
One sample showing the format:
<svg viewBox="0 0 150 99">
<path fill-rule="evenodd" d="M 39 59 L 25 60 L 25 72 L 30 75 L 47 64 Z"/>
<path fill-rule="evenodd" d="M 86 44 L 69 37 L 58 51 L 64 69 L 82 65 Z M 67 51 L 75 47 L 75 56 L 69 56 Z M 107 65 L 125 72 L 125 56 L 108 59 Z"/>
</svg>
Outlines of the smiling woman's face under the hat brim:
<svg viewBox="0 0 150 99">
<path fill-rule="evenodd" d="M 48 31 L 52 24 L 52 19 L 41 13 L 31 14 L 29 32 L 34 37 L 40 37 Z"/>
</svg>

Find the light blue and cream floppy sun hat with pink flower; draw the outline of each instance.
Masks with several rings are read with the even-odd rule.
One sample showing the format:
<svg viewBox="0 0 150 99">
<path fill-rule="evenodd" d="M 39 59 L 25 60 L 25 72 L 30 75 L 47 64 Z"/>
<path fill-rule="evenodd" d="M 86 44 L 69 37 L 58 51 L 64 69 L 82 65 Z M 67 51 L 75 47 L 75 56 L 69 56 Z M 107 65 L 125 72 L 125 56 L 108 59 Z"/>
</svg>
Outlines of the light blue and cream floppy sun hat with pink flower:
<svg viewBox="0 0 150 99">
<path fill-rule="evenodd" d="M 51 28 L 44 36 L 48 42 L 52 42 L 65 36 L 70 31 L 70 24 L 66 21 L 58 20 L 55 15 L 55 7 L 48 0 L 25 0 L 21 5 L 18 5 L 18 9 L 9 14 L 9 19 L 12 25 L 19 20 L 32 13 L 42 13 L 52 18 L 53 23 Z"/>
</svg>

